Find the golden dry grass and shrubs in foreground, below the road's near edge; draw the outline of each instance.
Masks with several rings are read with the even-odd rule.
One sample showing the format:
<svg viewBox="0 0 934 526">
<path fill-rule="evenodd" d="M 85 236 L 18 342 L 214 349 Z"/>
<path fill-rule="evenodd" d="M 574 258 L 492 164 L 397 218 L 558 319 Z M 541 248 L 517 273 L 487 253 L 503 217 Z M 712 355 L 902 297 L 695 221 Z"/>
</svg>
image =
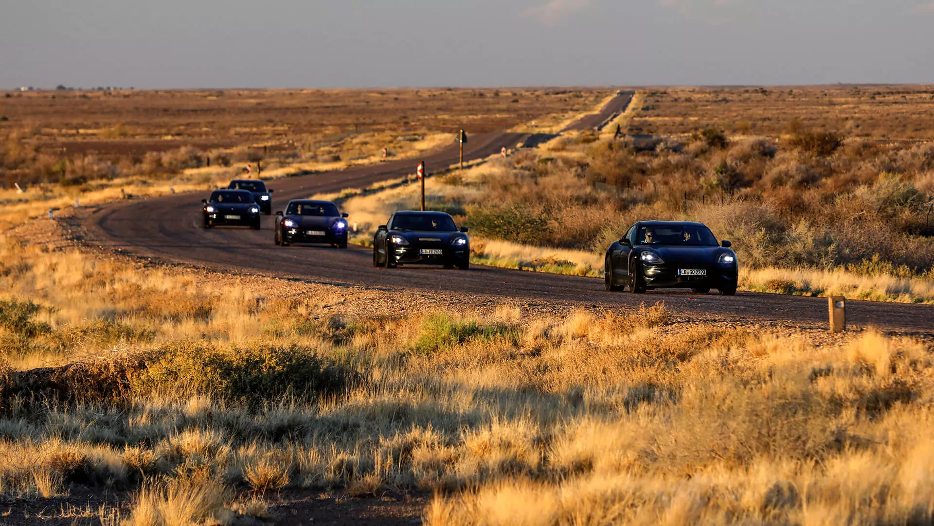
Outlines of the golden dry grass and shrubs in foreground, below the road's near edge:
<svg viewBox="0 0 934 526">
<path fill-rule="evenodd" d="M 334 311 L 345 292 L 9 237 L 0 256 L 0 498 L 55 517 L 106 489 L 84 517 L 231 524 L 279 491 L 411 491 L 433 525 L 934 519 L 929 341 L 662 305 Z"/>
</svg>

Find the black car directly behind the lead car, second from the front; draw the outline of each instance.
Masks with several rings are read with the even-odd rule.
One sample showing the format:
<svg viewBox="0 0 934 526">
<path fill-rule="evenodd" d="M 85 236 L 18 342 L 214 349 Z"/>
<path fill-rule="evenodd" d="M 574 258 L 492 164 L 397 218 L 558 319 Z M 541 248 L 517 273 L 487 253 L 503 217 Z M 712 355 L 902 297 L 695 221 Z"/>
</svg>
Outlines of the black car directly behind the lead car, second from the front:
<svg viewBox="0 0 934 526">
<path fill-rule="evenodd" d="M 373 265 L 403 263 L 470 268 L 470 238 L 444 212 L 396 212 L 373 238 Z"/>
</svg>

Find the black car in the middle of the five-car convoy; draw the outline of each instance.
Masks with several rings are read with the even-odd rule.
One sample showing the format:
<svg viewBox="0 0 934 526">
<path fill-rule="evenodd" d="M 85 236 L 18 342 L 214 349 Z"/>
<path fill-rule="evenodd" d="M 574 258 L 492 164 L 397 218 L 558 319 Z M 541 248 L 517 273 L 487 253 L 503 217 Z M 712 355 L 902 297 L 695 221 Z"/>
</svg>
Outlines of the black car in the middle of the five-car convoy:
<svg viewBox="0 0 934 526">
<path fill-rule="evenodd" d="M 347 248 L 347 214 L 331 201 L 293 199 L 286 212 L 276 212 L 276 244 L 325 242 Z"/>
</svg>

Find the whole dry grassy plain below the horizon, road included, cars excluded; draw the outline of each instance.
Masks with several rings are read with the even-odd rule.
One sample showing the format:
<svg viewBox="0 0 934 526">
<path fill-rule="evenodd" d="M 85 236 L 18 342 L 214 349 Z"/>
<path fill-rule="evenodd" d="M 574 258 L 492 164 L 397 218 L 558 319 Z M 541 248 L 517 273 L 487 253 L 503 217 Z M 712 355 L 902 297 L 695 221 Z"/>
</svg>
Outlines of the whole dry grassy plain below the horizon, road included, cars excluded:
<svg viewBox="0 0 934 526">
<path fill-rule="evenodd" d="M 0 96 L 0 524 L 930 523 L 930 87 L 637 89 L 561 132 L 617 91 Z M 365 246 L 419 197 L 382 148 L 460 128 L 527 146 L 426 181 L 469 278 L 191 226 L 261 162 Z M 739 295 L 603 292 L 645 218 L 731 240 Z M 836 294 L 892 310 L 796 312 Z"/>
</svg>

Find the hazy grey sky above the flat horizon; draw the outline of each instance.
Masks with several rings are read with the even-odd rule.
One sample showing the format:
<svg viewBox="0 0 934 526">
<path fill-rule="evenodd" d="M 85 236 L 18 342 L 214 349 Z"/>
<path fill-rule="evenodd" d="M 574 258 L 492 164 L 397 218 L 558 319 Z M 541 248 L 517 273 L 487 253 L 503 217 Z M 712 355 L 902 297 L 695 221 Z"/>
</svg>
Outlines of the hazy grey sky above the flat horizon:
<svg viewBox="0 0 934 526">
<path fill-rule="evenodd" d="M 0 88 L 934 82 L 934 0 L 0 0 Z"/>
</svg>

